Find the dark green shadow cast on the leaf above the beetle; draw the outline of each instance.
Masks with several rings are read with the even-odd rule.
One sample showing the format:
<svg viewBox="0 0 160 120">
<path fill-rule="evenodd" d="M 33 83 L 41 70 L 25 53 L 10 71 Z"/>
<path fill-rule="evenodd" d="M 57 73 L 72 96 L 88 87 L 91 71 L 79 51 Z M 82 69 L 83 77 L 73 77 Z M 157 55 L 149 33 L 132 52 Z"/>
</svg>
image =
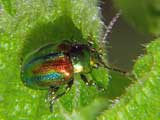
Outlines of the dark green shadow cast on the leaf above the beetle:
<svg viewBox="0 0 160 120">
<path fill-rule="evenodd" d="M 68 16 L 60 16 L 54 21 L 41 21 L 29 30 L 22 48 L 22 58 L 47 43 L 60 43 L 63 40 L 84 42 L 82 32 Z"/>
</svg>

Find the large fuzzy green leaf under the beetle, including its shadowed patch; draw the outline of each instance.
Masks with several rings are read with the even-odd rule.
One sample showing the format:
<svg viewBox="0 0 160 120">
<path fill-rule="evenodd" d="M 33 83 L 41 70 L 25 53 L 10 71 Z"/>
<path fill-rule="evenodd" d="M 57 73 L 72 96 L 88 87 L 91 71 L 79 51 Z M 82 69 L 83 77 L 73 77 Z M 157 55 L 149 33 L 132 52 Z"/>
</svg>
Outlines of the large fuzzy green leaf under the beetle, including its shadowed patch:
<svg viewBox="0 0 160 120">
<path fill-rule="evenodd" d="M 0 119 L 96 118 L 108 105 L 107 102 L 105 105 L 99 104 L 104 101 L 101 100 L 104 92 L 96 86 L 86 86 L 79 75 L 75 75 L 72 89 L 56 101 L 54 112 L 50 113 L 45 102 L 48 91 L 24 86 L 20 79 L 20 67 L 21 59 L 50 42 L 56 44 L 63 40 L 77 40 L 87 43 L 91 38 L 95 48 L 101 48 L 102 24 L 97 1 L 16 0 L 6 1 L 6 6 L 7 12 L 3 10 L 0 14 Z M 16 9 L 14 16 L 9 14 L 13 9 Z M 95 77 L 95 82 L 107 88 L 107 71 L 100 68 L 94 74 L 98 71 L 101 76 Z M 88 77 L 92 78 L 92 75 Z M 99 107 L 95 109 L 95 106 Z M 89 108 L 95 109 L 94 116 L 92 112 L 84 115 Z"/>
</svg>

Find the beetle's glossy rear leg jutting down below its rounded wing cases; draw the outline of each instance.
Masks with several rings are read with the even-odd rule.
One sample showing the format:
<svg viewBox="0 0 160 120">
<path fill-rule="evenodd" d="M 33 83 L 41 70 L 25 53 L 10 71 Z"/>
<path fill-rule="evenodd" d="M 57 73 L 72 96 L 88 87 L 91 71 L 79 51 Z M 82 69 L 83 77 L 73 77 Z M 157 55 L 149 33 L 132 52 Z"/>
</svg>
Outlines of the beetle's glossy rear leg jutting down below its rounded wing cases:
<svg viewBox="0 0 160 120">
<path fill-rule="evenodd" d="M 53 112 L 53 104 L 54 102 L 64 94 L 66 94 L 73 85 L 73 79 L 67 84 L 66 90 L 60 94 L 57 94 L 57 91 L 59 90 L 59 87 L 50 87 L 49 93 L 48 93 L 48 101 L 50 104 L 50 111 Z"/>
</svg>

